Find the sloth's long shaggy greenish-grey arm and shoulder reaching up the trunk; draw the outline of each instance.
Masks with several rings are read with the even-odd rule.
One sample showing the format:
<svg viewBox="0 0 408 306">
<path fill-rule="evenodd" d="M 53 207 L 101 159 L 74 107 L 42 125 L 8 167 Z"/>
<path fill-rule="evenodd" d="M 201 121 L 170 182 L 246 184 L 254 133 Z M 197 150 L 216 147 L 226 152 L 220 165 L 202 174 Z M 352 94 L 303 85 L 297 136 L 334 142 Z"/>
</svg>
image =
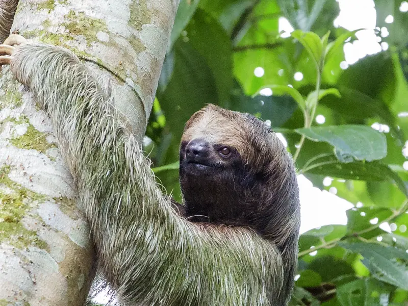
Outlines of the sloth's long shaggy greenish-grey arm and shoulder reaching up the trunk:
<svg viewBox="0 0 408 306">
<path fill-rule="evenodd" d="M 11 61 L 56 127 L 100 263 L 129 305 L 282 305 L 276 247 L 240 227 L 193 224 L 159 190 L 113 98 L 65 49 L 23 44 Z"/>
</svg>

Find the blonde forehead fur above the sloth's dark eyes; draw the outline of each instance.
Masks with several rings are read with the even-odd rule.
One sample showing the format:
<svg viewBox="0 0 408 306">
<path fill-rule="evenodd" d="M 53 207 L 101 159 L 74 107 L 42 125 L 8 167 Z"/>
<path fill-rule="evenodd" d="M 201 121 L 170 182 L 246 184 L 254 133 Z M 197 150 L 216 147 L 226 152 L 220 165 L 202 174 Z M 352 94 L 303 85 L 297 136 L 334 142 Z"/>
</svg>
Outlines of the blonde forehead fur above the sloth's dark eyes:
<svg viewBox="0 0 408 306">
<path fill-rule="evenodd" d="M 253 129 L 254 126 L 242 114 L 208 105 L 187 121 L 182 142 L 201 138 L 212 144 L 231 146 L 239 152 L 241 158 L 248 161 L 255 153 L 253 135 L 250 135 Z M 268 146 L 267 143 L 263 145 Z"/>
</svg>

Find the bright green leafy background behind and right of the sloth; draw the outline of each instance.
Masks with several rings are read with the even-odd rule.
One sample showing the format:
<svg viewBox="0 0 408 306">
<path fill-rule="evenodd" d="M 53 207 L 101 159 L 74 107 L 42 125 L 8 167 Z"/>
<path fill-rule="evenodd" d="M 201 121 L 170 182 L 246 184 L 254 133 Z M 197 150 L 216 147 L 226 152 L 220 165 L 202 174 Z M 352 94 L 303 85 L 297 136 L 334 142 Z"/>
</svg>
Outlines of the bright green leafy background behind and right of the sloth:
<svg viewBox="0 0 408 306">
<path fill-rule="evenodd" d="M 270 120 L 285 136 L 299 173 L 320 189 L 329 188 L 324 177 L 333 178 L 330 187 L 355 205 L 347 225 L 301 236 L 292 305 L 408 305 L 402 154 L 408 13 L 399 10 L 402 2 L 374 1 L 377 26 L 389 31 L 377 35 L 389 48 L 343 70 L 343 44 L 356 37 L 334 27 L 335 0 L 181 0 L 146 133 L 151 142 L 145 150 L 164 188 L 180 199 L 184 123 L 212 103 Z M 385 23 L 388 15 L 392 23 Z M 279 17 L 296 30 L 290 37 L 281 37 Z M 256 67 L 264 69 L 262 77 L 254 75 Z M 263 88 L 273 94 L 261 95 Z M 323 124 L 316 114 L 324 115 Z M 374 122 L 389 132 L 372 129 Z M 379 228 L 384 222 L 391 233 Z"/>
</svg>

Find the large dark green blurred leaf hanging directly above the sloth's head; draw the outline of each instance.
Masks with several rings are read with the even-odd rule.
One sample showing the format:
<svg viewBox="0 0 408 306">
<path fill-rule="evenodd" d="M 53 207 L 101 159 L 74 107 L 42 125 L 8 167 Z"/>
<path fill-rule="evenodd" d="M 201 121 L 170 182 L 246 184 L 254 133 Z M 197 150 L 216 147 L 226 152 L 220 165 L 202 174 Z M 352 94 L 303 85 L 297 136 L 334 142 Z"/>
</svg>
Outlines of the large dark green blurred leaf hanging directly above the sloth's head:
<svg viewBox="0 0 408 306">
<path fill-rule="evenodd" d="M 230 37 L 211 15 L 200 9 L 186 31 L 189 43 L 207 60 L 217 86 L 218 104 L 225 107 L 233 87 Z"/>
</svg>

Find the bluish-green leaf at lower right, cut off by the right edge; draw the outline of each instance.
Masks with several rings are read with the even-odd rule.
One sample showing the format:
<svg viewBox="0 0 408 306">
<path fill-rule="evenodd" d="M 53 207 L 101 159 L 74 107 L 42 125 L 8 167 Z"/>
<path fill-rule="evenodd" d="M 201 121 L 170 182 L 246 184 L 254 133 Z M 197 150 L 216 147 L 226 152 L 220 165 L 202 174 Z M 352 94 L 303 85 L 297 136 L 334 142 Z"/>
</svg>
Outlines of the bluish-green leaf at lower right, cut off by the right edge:
<svg viewBox="0 0 408 306">
<path fill-rule="evenodd" d="M 339 243 L 339 245 L 362 254 L 363 264 L 370 270 L 373 277 L 408 290 L 408 268 L 398 261 L 408 261 L 408 253 L 405 250 L 363 242 Z"/>
</svg>

